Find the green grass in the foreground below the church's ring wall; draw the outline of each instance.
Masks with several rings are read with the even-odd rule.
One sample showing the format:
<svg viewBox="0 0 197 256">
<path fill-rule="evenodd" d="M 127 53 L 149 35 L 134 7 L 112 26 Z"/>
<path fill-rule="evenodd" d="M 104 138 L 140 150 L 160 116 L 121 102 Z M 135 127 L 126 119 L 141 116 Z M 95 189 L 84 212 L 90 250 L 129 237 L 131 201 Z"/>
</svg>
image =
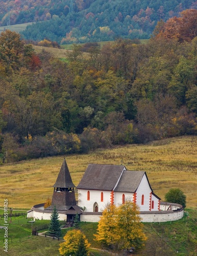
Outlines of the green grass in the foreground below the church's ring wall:
<svg viewBox="0 0 197 256">
<path fill-rule="evenodd" d="M 165 255 L 177 255 L 177 251 L 179 251 L 178 255 L 186 256 L 186 255 L 196 255 L 196 235 L 197 235 L 197 220 L 196 220 L 196 211 L 188 210 L 190 218 L 184 217 L 182 220 L 170 222 L 170 223 L 145 223 L 144 224 L 144 232 L 146 237 L 148 238 L 146 243 L 149 243 L 150 237 L 156 234 L 157 238 L 162 238 L 163 244 L 162 247 L 170 250 L 170 253 Z M 34 226 L 40 226 L 42 224 L 46 224 L 49 221 L 41 221 L 36 220 L 33 223 Z M 95 242 L 93 240 L 93 234 L 96 233 L 97 223 L 80 223 L 80 229 L 85 233 L 88 242 L 92 248 L 103 249 L 102 245 Z M 65 235 L 68 229 L 62 230 L 62 236 Z M 36 256 L 58 256 L 58 248 L 60 241 L 31 236 L 31 223 L 27 222 L 27 219 L 23 216 L 12 218 L 12 223 L 9 224 L 9 253 L 3 252 L 3 236 L 4 230 L 0 229 L 0 255 L 36 255 Z M 160 255 L 159 251 L 157 254 L 153 254 L 153 251 L 147 253 L 145 252 L 143 247 L 137 252 L 139 256 L 153 256 Z M 159 248 L 159 247 L 158 247 Z M 108 254 L 106 252 L 91 250 L 94 256 L 105 255 Z M 163 254 L 162 254 L 163 255 Z"/>
</svg>

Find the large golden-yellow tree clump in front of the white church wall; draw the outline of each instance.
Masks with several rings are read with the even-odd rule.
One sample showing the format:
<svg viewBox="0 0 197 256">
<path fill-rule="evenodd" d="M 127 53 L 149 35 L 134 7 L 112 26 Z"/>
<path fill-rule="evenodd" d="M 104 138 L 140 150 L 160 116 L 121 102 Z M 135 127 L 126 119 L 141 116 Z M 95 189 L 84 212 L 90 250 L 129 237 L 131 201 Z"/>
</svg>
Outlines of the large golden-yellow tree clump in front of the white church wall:
<svg viewBox="0 0 197 256">
<path fill-rule="evenodd" d="M 131 200 L 120 206 L 107 205 L 99 221 L 95 240 L 108 245 L 115 251 L 139 248 L 146 240 L 139 207 Z"/>
</svg>

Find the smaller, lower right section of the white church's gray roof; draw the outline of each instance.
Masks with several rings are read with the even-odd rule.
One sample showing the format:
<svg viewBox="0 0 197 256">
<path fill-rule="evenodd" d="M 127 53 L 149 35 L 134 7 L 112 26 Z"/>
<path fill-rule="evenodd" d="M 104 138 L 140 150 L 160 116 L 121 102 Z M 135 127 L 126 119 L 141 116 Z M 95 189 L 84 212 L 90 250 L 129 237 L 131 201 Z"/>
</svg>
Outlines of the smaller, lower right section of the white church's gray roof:
<svg viewBox="0 0 197 256">
<path fill-rule="evenodd" d="M 114 191 L 135 192 L 145 172 L 137 170 L 124 170 L 120 181 Z"/>
</svg>

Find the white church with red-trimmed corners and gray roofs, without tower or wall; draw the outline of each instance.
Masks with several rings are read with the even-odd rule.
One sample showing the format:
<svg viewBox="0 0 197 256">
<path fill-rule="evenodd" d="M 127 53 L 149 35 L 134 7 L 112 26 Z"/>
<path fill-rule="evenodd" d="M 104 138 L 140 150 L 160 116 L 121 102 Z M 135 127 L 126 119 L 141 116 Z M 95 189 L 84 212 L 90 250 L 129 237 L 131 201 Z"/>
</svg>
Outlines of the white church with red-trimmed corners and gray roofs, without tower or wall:
<svg viewBox="0 0 197 256">
<path fill-rule="evenodd" d="M 107 204 L 124 204 L 126 198 L 140 211 L 160 210 L 160 198 L 145 172 L 127 170 L 123 165 L 89 164 L 78 188 L 79 206 L 86 211 L 102 211 Z"/>
</svg>

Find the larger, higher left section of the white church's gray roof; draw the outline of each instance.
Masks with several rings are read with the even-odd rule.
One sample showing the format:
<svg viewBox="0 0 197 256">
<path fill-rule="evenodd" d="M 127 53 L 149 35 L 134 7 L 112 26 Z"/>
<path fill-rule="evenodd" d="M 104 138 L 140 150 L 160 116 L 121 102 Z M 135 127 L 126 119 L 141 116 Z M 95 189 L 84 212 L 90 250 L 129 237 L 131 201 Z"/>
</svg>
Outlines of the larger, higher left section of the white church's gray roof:
<svg viewBox="0 0 197 256">
<path fill-rule="evenodd" d="M 112 190 L 125 166 L 89 164 L 77 188 Z"/>
</svg>

